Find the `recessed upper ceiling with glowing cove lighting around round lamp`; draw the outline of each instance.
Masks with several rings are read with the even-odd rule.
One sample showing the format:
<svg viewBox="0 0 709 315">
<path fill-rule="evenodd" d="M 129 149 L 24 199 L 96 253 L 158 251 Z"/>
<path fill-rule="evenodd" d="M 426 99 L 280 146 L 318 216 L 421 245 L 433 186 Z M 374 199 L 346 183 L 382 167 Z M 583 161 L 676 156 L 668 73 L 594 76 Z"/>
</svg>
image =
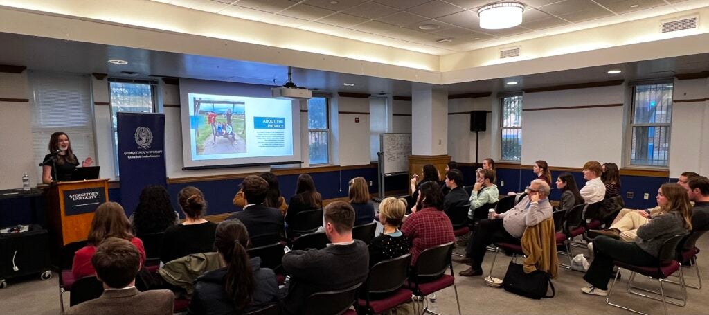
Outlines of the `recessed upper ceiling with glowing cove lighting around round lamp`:
<svg viewBox="0 0 709 315">
<path fill-rule="evenodd" d="M 479 27 L 476 10 L 498 0 L 151 0 L 390 47 L 423 45 L 447 55 L 649 18 L 707 5 L 704 0 L 520 0 L 523 23 Z M 435 29 L 422 30 L 419 26 Z M 437 40 L 450 42 L 437 43 Z M 419 46 L 420 47 L 420 46 Z"/>
</svg>

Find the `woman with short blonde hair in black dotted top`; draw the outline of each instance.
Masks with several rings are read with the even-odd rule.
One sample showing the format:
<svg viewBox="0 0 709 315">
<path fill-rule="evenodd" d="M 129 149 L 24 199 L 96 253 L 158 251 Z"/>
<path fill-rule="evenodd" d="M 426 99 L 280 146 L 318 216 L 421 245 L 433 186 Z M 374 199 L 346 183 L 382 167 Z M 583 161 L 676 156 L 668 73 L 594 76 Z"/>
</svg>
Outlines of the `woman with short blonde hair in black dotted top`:
<svg viewBox="0 0 709 315">
<path fill-rule="evenodd" d="M 381 201 L 379 222 L 384 225 L 384 230 L 369 243 L 369 266 L 408 254 L 411 242 L 398 229 L 405 214 L 406 202 L 403 199 L 387 197 Z"/>
</svg>

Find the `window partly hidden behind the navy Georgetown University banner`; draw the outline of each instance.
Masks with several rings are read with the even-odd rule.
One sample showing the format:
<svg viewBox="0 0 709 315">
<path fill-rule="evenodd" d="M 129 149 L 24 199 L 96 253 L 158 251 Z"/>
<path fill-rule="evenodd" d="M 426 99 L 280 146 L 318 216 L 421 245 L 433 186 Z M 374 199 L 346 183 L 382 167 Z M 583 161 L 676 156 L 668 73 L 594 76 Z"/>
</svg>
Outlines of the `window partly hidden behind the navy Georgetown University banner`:
<svg viewBox="0 0 709 315">
<path fill-rule="evenodd" d="M 118 177 L 118 121 L 116 113 L 128 111 L 134 113 L 155 112 L 155 84 L 157 82 L 108 79 L 111 97 L 111 131 L 113 132 L 113 165 L 116 165 Z"/>
</svg>

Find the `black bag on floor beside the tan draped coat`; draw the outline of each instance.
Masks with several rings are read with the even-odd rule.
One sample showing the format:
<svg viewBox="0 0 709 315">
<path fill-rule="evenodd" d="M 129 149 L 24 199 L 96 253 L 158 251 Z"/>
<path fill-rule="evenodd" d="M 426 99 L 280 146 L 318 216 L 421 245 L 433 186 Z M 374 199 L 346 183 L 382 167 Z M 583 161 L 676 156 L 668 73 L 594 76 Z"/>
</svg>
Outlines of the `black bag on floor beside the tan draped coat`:
<svg viewBox="0 0 709 315">
<path fill-rule="evenodd" d="M 542 299 L 542 297 L 554 297 L 554 284 L 549 278 L 547 272 L 535 270 L 531 273 L 525 273 L 523 265 L 510 262 L 507 267 L 505 279 L 502 281 L 502 287 L 507 292 L 529 297 L 530 299 Z M 552 295 L 547 295 L 547 288 L 552 287 Z"/>
</svg>

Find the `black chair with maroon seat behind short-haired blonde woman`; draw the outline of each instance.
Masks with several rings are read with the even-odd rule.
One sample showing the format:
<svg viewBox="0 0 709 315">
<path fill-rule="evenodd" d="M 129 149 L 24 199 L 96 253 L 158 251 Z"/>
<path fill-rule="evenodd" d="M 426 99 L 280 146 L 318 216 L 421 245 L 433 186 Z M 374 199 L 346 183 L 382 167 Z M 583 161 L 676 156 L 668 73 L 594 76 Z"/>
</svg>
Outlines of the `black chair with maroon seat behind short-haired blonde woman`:
<svg viewBox="0 0 709 315">
<path fill-rule="evenodd" d="M 401 286 L 406 282 L 411 254 L 377 262 L 369 268 L 369 276 L 362 286 L 364 299 L 358 299 L 360 314 L 381 314 L 411 301 L 411 290 Z M 362 292 L 359 296 L 362 297 Z M 376 297 L 381 297 L 377 299 Z"/>
</svg>

